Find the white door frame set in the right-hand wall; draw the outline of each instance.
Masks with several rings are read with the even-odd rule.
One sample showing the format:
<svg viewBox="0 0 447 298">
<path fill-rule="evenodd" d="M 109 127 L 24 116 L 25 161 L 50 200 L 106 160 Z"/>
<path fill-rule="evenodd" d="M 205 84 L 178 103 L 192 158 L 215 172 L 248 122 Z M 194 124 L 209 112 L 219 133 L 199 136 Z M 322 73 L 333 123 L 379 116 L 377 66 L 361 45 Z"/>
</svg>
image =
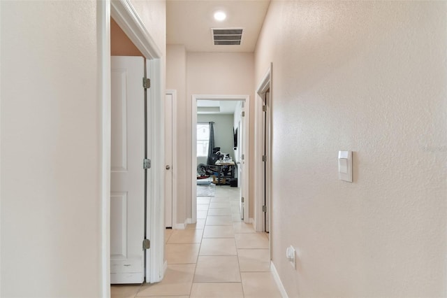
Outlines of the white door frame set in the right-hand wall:
<svg viewBox="0 0 447 298">
<path fill-rule="evenodd" d="M 256 229 L 256 232 L 264 232 L 263 227 L 263 136 L 262 136 L 262 117 L 263 117 L 263 96 L 267 90 L 270 90 L 270 100 L 272 99 L 272 64 L 270 64 L 270 67 L 268 71 L 265 73 L 263 78 L 261 79 L 261 83 L 259 83 L 258 88 L 256 88 L 256 93 L 258 96 L 256 97 L 255 101 L 255 113 L 256 113 L 256 125 L 255 125 L 255 178 L 256 178 L 256 187 L 255 187 L 255 208 L 254 208 L 254 228 Z M 271 111 L 270 111 L 271 113 Z M 272 131 L 272 117 L 270 115 L 270 131 Z M 272 138 L 272 136 L 270 136 Z M 270 152 L 270 158 L 267 159 L 267 162 L 270 163 L 270 166 L 268 166 L 268 169 L 270 169 L 270 180 L 268 181 L 269 186 L 267 187 L 268 191 L 270 192 L 268 195 L 269 198 L 269 206 L 271 208 L 272 206 L 272 139 L 270 139 L 270 143 L 267 145 L 269 146 L 268 152 Z M 269 212 L 270 218 L 272 216 L 272 213 Z M 269 219 L 269 226 L 271 227 L 271 220 Z M 270 229 L 270 233 L 272 232 L 272 229 Z M 271 238 L 271 236 L 270 236 Z M 271 243 L 271 241 L 270 241 Z M 271 251 L 271 250 L 270 250 Z"/>
</svg>

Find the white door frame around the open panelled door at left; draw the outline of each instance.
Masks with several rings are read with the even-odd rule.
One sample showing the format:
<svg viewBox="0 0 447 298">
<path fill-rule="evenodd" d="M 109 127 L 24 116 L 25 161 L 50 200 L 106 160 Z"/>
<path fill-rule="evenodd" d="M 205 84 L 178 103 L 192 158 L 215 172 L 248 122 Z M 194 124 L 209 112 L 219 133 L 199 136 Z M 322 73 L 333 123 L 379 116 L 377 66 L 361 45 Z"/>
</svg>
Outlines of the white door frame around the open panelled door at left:
<svg viewBox="0 0 447 298">
<path fill-rule="evenodd" d="M 148 197 L 148 238 L 152 246 L 147 254 L 147 282 L 161 281 L 163 263 L 163 78 L 161 77 L 161 51 L 150 36 L 129 0 L 103 0 L 97 2 L 98 31 L 98 97 L 101 101 L 101 296 L 110 297 L 110 17 L 119 24 L 129 39 L 147 59 L 147 76 L 152 78 L 148 90 L 148 109 L 151 119 L 150 150 L 152 175 Z M 163 90 L 163 92 L 162 92 Z M 156 100 L 154 100 L 156 99 Z M 150 265 L 149 265 L 150 264 Z"/>
</svg>

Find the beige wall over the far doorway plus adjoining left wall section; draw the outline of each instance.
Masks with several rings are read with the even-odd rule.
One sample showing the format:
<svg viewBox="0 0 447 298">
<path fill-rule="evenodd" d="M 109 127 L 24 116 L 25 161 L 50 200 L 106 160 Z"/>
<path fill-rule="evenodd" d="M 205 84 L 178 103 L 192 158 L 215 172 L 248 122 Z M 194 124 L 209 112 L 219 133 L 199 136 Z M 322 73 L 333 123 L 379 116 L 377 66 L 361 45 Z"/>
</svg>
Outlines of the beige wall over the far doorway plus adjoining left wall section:
<svg viewBox="0 0 447 298">
<path fill-rule="evenodd" d="M 253 100 L 254 55 L 186 52 L 183 45 L 168 45 L 166 63 L 166 86 L 177 90 L 177 193 L 183 194 L 177 199 L 177 224 L 182 224 L 191 218 L 192 94 L 248 94 Z"/>
</svg>

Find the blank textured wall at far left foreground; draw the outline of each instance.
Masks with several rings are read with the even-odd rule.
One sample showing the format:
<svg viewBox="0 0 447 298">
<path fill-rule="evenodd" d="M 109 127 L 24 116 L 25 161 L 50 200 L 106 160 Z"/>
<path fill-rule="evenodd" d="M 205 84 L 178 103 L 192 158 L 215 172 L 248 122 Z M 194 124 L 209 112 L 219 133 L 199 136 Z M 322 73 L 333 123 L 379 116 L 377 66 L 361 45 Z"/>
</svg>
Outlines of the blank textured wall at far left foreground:
<svg viewBox="0 0 447 298">
<path fill-rule="evenodd" d="M 94 1 L 1 1 L 1 297 L 100 297 Z"/>
</svg>

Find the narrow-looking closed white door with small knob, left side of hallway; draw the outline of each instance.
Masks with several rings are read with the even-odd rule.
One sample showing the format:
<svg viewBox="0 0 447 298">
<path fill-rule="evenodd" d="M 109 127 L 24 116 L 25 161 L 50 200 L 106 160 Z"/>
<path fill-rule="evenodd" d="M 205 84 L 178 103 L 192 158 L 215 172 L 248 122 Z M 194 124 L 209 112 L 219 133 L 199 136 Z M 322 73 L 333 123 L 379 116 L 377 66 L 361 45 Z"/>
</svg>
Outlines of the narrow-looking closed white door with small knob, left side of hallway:
<svg viewBox="0 0 447 298">
<path fill-rule="evenodd" d="M 173 227 L 173 94 L 165 99 L 165 226 Z"/>
</svg>

